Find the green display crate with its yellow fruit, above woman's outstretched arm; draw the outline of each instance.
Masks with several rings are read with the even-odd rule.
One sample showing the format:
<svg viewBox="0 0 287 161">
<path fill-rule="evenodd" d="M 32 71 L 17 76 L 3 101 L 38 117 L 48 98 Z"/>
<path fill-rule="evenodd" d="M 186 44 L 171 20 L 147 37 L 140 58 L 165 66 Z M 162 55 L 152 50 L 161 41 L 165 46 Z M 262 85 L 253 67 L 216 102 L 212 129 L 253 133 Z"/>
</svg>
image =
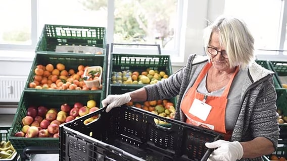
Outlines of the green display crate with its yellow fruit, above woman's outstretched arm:
<svg viewBox="0 0 287 161">
<path fill-rule="evenodd" d="M 153 73 L 149 75 L 147 69 L 152 70 Z M 162 76 L 168 77 L 172 74 L 172 67 L 170 62 L 169 55 L 142 55 L 142 54 L 120 54 L 112 53 L 110 60 L 110 73 L 109 73 L 109 94 L 123 94 L 129 91 L 134 91 L 143 86 L 150 84 L 152 80 L 155 80 L 155 72 L 162 71 Z M 143 75 L 143 72 L 146 75 Z M 114 73 L 118 75 L 113 75 Z M 125 80 L 125 75 L 130 76 L 130 79 Z M 134 76 L 134 77 L 133 77 Z M 142 76 L 145 79 L 148 79 L 148 83 L 140 83 Z M 148 77 L 150 76 L 150 77 Z M 153 78 L 154 79 L 153 79 Z M 124 79 L 123 79 L 124 78 Z M 131 82 L 131 78 L 132 81 Z M 159 74 L 157 74 L 157 80 L 159 79 Z M 118 80 L 121 82 L 115 82 Z M 125 83 L 124 81 L 128 81 Z M 156 83 L 156 82 L 154 82 Z"/>
</svg>

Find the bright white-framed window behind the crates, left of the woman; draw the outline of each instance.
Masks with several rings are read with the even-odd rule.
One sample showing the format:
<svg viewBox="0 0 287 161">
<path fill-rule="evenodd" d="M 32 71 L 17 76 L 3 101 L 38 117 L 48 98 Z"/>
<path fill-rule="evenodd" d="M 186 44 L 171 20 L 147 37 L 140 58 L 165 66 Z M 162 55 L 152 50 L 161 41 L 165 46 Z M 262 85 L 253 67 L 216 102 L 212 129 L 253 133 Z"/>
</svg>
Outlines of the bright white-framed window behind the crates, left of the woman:
<svg viewBox="0 0 287 161">
<path fill-rule="evenodd" d="M 159 44 L 163 54 L 179 54 L 183 0 L 15 1 L 0 2 L 1 50 L 34 50 L 44 24 L 55 24 L 106 27 L 110 42 Z"/>
</svg>

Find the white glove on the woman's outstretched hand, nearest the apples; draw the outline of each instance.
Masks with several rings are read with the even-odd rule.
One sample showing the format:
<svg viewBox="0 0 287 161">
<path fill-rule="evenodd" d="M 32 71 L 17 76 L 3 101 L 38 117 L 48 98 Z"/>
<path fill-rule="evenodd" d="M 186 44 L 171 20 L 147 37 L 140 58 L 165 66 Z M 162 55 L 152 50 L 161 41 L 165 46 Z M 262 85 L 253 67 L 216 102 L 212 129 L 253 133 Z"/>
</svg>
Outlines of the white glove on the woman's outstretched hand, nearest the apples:
<svg viewBox="0 0 287 161">
<path fill-rule="evenodd" d="M 122 95 L 109 95 L 106 99 L 102 101 L 103 107 L 109 105 L 106 109 L 106 112 L 109 112 L 114 107 L 119 107 L 123 104 L 128 103 L 131 100 L 129 93 Z"/>
</svg>

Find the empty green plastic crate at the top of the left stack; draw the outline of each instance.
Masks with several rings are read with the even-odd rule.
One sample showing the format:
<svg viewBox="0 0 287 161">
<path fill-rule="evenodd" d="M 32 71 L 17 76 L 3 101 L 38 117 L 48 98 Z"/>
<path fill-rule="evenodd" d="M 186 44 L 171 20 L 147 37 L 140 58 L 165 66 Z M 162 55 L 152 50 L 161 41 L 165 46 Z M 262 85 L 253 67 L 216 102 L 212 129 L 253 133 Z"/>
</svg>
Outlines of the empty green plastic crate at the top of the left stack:
<svg viewBox="0 0 287 161">
<path fill-rule="evenodd" d="M 88 26 L 44 25 L 36 52 L 55 52 L 57 46 L 106 48 L 106 28 Z M 62 53 L 69 53 L 63 51 Z M 76 51 L 75 53 L 81 53 Z M 103 52 L 104 53 L 104 52 Z"/>
</svg>

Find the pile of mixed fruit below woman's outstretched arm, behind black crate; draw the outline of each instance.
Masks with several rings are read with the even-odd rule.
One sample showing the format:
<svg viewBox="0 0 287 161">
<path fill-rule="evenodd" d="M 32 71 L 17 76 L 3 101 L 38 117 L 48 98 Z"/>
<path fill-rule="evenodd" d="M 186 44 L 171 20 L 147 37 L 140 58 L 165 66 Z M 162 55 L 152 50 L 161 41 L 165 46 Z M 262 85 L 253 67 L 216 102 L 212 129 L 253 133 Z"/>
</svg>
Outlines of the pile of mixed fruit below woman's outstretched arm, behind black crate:
<svg viewBox="0 0 287 161">
<path fill-rule="evenodd" d="M 154 114 L 157 114 L 165 118 L 174 119 L 174 116 L 175 116 L 174 104 L 168 100 L 146 101 L 146 102 L 143 102 L 142 104 L 128 102 L 126 105 L 134 106 L 134 107 L 152 112 Z M 167 124 L 167 122 L 164 122 L 158 119 L 155 119 L 155 122 L 157 124 Z"/>
</svg>

